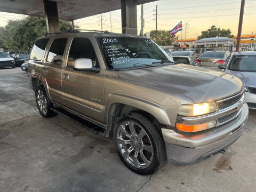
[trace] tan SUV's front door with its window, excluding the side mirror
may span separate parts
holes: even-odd
[[[76,59],[92,59],[99,67],[89,38],[75,37],[70,45],[67,66],[62,71],[63,103],[67,108],[98,122],[104,121],[104,78],[102,72],[74,70]]]

